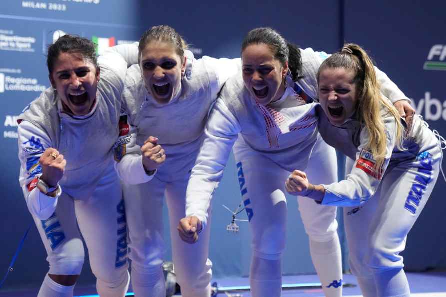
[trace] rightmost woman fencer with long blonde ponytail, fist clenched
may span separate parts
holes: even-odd
[[[399,116],[356,44],[322,63],[318,83],[319,132],[355,161],[344,180],[331,184],[312,184],[294,170],[286,189],[344,207],[349,262],[364,297],[408,297],[399,253],[437,180],[444,140],[420,116],[409,124]]]

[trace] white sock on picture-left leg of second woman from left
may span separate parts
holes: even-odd
[[[162,267],[151,270],[132,265],[131,286],[135,296],[165,297],[165,279]]]

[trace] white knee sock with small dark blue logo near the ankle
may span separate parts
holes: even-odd
[[[325,296],[341,297],[342,254],[337,233],[328,242],[316,242],[310,239],[309,248]]]

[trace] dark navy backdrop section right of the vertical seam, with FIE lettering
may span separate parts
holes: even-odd
[[[412,99],[430,128],[446,135],[446,2],[378,0],[364,4],[346,0],[345,8],[345,39],[369,50],[378,67]],[[446,267],[445,191],[440,173],[408,235],[402,253],[407,270]]]

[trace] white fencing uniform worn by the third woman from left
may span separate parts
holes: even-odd
[[[314,180],[337,180],[335,151],[320,139],[314,108],[317,103],[309,103],[316,97],[317,70],[327,55],[307,48],[301,50],[301,56],[299,75],[303,78],[295,83],[288,78],[283,96],[267,106],[250,96],[241,72],[226,82],[206,125],[206,138],[187,188],[186,215],[197,216],[206,227],[212,194],[234,147],[241,195],[253,232],[251,291],[255,297],[280,295],[280,258],[286,231],[284,183],[289,172],[308,168],[308,176]],[[395,101],[406,99],[384,73],[378,71],[378,75],[387,96]],[[301,197],[298,202],[324,293],[340,296],[336,208]],[[268,265],[271,271],[262,267]]]

